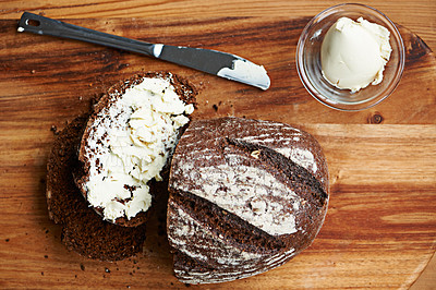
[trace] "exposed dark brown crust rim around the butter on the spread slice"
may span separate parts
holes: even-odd
[[[109,88],[108,93],[105,94],[99,101],[94,106],[93,112],[86,123],[86,128],[84,130],[84,134],[82,136],[81,145],[78,148],[78,160],[81,166],[77,167],[74,171],[75,182],[77,188],[81,190],[82,195],[86,198],[87,192],[85,189],[85,183],[88,181],[89,178],[89,164],[88,160],[85,158],[85,147],[86,141],[89,137],[89,128],[92,128],[95,122],[98,113],[104,110],[105,108],[109,107],[112,101],[120,98],[126,89],[131,88],[132,86],[141,83],[144,77],[153,77],[153,78],[165,78],[169,80],[171,85],[174,87],[175,93],[183,100],[185,104],[195,104],[195,96],[197,95],[196,88],[191,85],[186,80],[180,77],[175,74],[171,74],[169,72],[148,72],[136,74],[130,77],[126,81],[120,81],[116,85]],[[187,125],[182,128],[179,131],[179,136],[183,133]],[[170,160],[170,158],[168,158]],[[169,162],[167,162],[166,167],[162,169],[161,177],[164,181],[156,182],[154,179],[148,182],[150,188],[150,194],[153,196],[153,204],[156,202],[156,198],[159,196],[165,196],[162,192],[167,191],[168,188],[168,174],[169,174]],[[102,215],[102,208],[94,208],[99,215]],[[148,219],[150,210],[141,212],[135,217],[128,219],[126,217],[118,218],[114,223],[123,227],[137,227]]]

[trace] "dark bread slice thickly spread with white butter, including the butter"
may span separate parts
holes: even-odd
[[[177,75],[147,73],[111,87],[95,106],[74,176],[105,220],[126,227],[146,221],[195,95]]]

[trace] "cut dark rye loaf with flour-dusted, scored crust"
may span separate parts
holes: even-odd
[[[318,233],[328,169],[308,133],[269,121],[192,121],[174,152],[167,233],[185,283],[240,279],[282,265]]]

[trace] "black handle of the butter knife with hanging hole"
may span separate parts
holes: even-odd
[[[24,12],[21,16],[19,32],[29,32],[40,35],[71,38],[154,57],[154,44],[129,39],[107,33],[100,33],[29,12]]]

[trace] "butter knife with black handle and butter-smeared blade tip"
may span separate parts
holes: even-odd
[[[72,25],[29,12],[24,12],[21,16],[17,31],[71,38],[143,53],[262,89],[267,89],[270,84],[264,67],[235,55],[217,50],[149,44]]]

